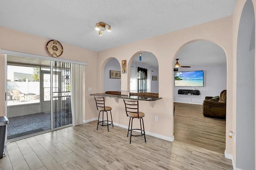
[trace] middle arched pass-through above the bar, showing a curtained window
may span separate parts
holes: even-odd
[[[132,60],[130,69],[130,92],[158,93],[158,60],[153,53],[138,53]]]

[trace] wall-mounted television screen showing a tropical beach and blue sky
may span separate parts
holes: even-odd
[[[204,71],[174,72],[174,86],[204,86]]]

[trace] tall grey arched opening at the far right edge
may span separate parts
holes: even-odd
[[[236,167],[255,169],[255,16],[252,0],[247,0],[242,10],[236,56]]]

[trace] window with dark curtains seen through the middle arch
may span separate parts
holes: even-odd
[[[138,67],[138,92],[148,92],[147,90],[147,75],[148,70],[146,68]]]

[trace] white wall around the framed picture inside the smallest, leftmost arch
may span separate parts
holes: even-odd
[[[121,71],[121,66],[117,59],[110,59],[104,68],[104,92],[121,90],[121,79],[110,78],[110,70]]]

